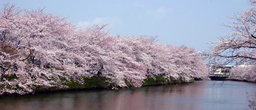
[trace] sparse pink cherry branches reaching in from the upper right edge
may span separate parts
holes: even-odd
[[[219,38],[219,41],[210,42],[215,45],[211,47],[209,54],[209,57],[214,60],[211,63],[219,62],[225,65],[247,62],[254,64],[256,59],[256,1],[249,0],[249,3],[252,8],[237,12],[237,15],[232,17],[226,16],[235,22],[223,24],[223,26],[231,28],[234,32]]]

